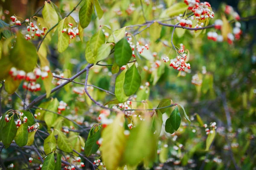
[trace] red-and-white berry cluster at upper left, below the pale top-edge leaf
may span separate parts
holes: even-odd
[[[47,30],[47,28],[42,27],[40,23],[38,23],[38,26],[41,28],[39,28],[38,26],[36,26],[34,23],[30,22],[29,23],[29,19],[25,20],[27,25],[27,31],[29,32],[29,34],[26,34],[25,38],[26,40],[30,40],[31,38],[34,38],[35,36],[40,37],[41,35],[44,36],[45,35],[45,31]],[[35,32],[35,34],[34,34]]]

